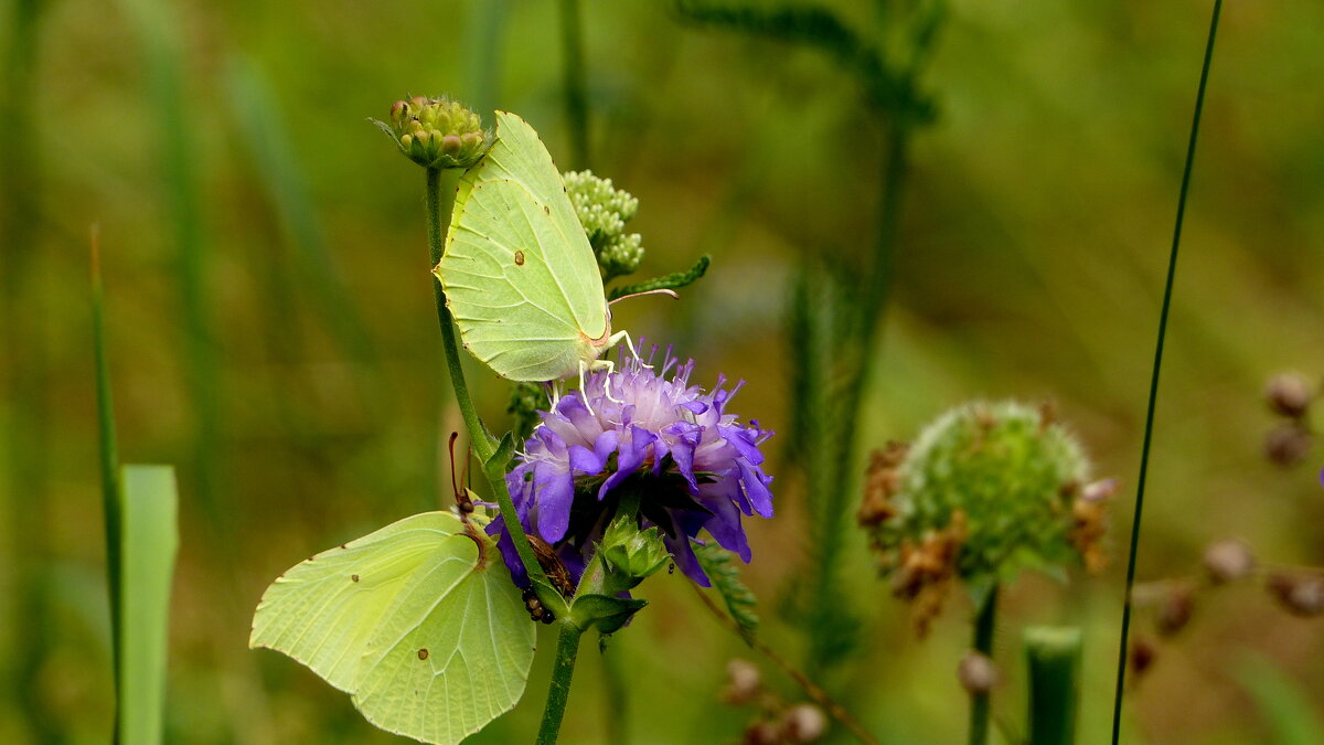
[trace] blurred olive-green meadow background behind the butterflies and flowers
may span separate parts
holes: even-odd
[[[874,3],[829,4],[875,23]],[[167,740],[391,741],[312,673],[249,651],[249,619],[287,566],[449,494],[442,445],[461,423],[432,310],[422,171],[365,118],[406,93],[449,93],[520,113],[571,166],[557,4],[0,7],[0,741],[102,742],[111,726],[93,223],[122,456],[180,469]],[[1207,17],[1188,0],[951,4],[923,76],[937,119],[914,138],[862,411],[861,453],[967,398],[1051,396],[1099,473],[1121,479],[1110,569],[1066,587],[1027,577],[1004,604],[1012,683],[996,711],[1022,717],[1018,628],[1080,624],[1082,742],[1108,733],[1128,505]],[[695,357],[698,382],[748,380],[733,410],[785,432],[788,370],[802,362],[785,342],[788,278],[805,253],[873,240],[880,137],[859,86],[821,54],[678,23],[662,0],[581,0],[581,19],[592,164],[639,198],[641,276],[714,256],[681,302],[628,302],[616,323]],[[1315,1],[1225,8],[1141,581],[1192,573],[1231,536],[1264,561],[1324,563],[1320,453],[1294,471],[1264,463],[1259,399],[1270,372],[1324,371],[1321,38]],[[506,386],[477,366],[470,380],[502,422]],[[745,570],[764,638],[792,659],[801,639],[776,608],[806,549],[814,485],[800,465],[773,457],[779,514],[748,524]],[[959,741],[968,603],[953,599],[916,640],[863,536],[839,540],[866,632],[829,688],[886,742]],[[632,741],[737,740],[748,712],[718,693],[727,660],[752,652],[678,575],[641,591],[653,604],[608,652],[633,680]],[[1148,616],[1135,632],[1152,636]],[[475,741],[532,740],[552,643],[540,640],[524,704]],[[1242,676],[1254,659],[1324,716],[1324,628],[1231,589],[1131,689],[1125,741],[1274,741]],[[564,741],[602,740],[601,677],[587,644]]]

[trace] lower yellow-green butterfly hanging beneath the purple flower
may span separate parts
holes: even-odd
[[[519,701],[534,640],[495,540],[428,512],[282,574],[249,646],[303,663],[387,732],[453,744]]]

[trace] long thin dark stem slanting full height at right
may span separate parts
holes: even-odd
[[[1186,144],[1186,167],[1181,175],[1181,194],[1177,198],[1177,221],[1172,233],[1172,255],[1168,258],[1168,281],[1164,285],[1162,310],[1158,314],[1158,341],[1155,345],[1153,375],[1149,379],[1149,407],[1145,411],[1145,439],[1140,449],[1140,477],[1136,483],[1136,513],[1131,522],[1131,551],[1127,558],[1127,594],[1121,603],[1121,643],[1117,648],[1117,689],[1112,701],[1112,742],[1117,744],[1121,730],[1121,699],[1127,683],[1127,638],[1131,632],[1131,587],[1136,581],[1136,549],[1140,546],[1140,518],[1145,501],[1145,476],[1149,471],[1149,445],[1153,439],[1155,404],[1158,400],[1158,370],[1162,366],[1162,346],[1168,331],[1168,312],[1172,309],[1172,285],[1177,274],[1177,249],[1181,245],[1181,223],[1186,216],[1186,195],[1190,191],[1190,171],[1196,162],[1196,138],[1200,134],[1200,115],[1205,109],[1205,87],[1214,58],[1214,37],[1218,33],[1218,15],[1223,0],[1214,0],[1209,21],[1209,41],[1205,44],[1205,64],[1200,70],[1200,89],[1196,93],[1196,113],[1190,121],[1190,141]]]

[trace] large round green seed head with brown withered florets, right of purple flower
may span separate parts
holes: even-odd
[[[871,529],[883,573],[915,598],[957,578],[978,595],[1022,567],[1061,575],[1100,563],[1103,502],[1084,451],[1045,407],[969,403],[899,451],[887,510]]]

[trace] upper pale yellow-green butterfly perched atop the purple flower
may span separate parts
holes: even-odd
[[[561,175],[528,122],[496,111],[496,142],[455,190],[433,268],[465,349],[511,380],[610,367],[602,277]]]

